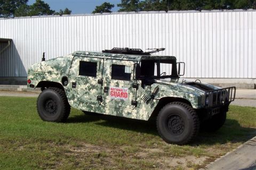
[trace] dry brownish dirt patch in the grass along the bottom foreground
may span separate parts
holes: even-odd
[[[54,146],[54,143],[50,143]],[[79,143],[78,146],[60,145],[61,150],[66,150],[65,155],[75,156],[75,165],[88,162],[87,168],[98,169],[100,167],[124,167],[127,169],[191,169],[191,167],[203,165],[209,157],[196,156],[166,156],[161,148],[142,148],[138,146],[122,146],[119,148],[108,146],[96,146],[87,143]],[[93,165],[93,167],[92,167]]]

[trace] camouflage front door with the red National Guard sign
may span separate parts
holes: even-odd
[[[104,106],[133,109],[137,105],[134,64],[133,61],[105,60],[102,76]]]

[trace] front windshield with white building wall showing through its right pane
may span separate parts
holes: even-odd
[[[178,77],[175,60],[142,60],[139,79],[166,79]]]

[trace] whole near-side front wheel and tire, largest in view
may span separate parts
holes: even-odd
[[[200,123],[197,113],[191,106],[173,102],[161,109],[156,126],[165,142],[184,145],[197,136]]]

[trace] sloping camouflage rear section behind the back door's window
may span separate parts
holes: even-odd
[[[28,71],[55,73],[55,74],[68,74],[73,57],[74,57],[73,55],[67,55],[67,56],[57,57],[51,60],[39,62],[31,65]]]

